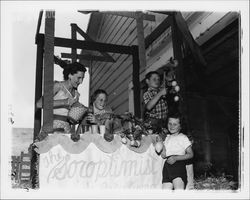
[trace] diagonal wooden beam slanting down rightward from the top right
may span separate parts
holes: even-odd
[[[192,34],[189,31],[188,25],[185,19],[182,17],[180,12],[174,14],[176,25],[179,28],[182,37],[186,40],[187,44],[190,47],[192,54],[194,55],[195,60],[203,66],[206,66],[206,61],[201,53],[199,45],[195,42]]]

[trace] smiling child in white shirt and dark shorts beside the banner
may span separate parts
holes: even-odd
[[[186,160],[193,158],[193,150],[188,137],[181,133],[181,120],[178,113],[168,117],[171,135],[164,141],[161,153],[162,158],[166,159],[162,172],[163,189],[185,189],[187,185]]]

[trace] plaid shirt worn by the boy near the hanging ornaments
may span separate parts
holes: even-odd
[[[143,94],[143,101],[146,105],[153,97],[159,92],[159,89],[148,88],[148,90]],[[167,101],[163,98],[156,103],[156,105],[149,111],[146,110],[146,117],[156,118],[156,119],[166,119],[168,114]]]

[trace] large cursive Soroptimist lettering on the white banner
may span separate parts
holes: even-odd
[[[51,169],[47,176],[47,183],[51,180],[64,180],[71,178],[91,178],[95,182],[100,178],[116,178],[124,176],[144,176],[157,173],[155,158],[153,156],[138,157],[138,159],[117,159],[119,155],[105,156],[98,161],[87,161],[73,159],[70,154],[56,157],[50,154],[53,159],[50,163]],[[60,158],[60,160],[59,160]],[[48,166],[46,164],[46,166]],[[53,166],[53,167],[52,167]]]

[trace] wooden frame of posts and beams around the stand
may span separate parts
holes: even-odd
[[[79,11],[83,12],[83,11]],[[85,12],[86,13],[86,12]],[[140,94],[140,70],[146,67],[146,49],[169,27],[172,29],[172,41],[174,49],[174,57],[179,60],[179,67],[177,72],[177,80],[181,87],[185,90],[185,83],[183,81],[183,63],[182,63],[182,47],[181,42],[183,38],[187,40],[187,43],[195,55],[195,58],[205,64],[203,57],[199,51],[198,45],[192,39],[192,36],[187,26],[180,27],[185,24],[185,20],[180,13],[167,12],[168,17],[158,26],[155,30],[144,38],[143,20],[154,21],[154,15],[144,14],[142,12],[108,12],[106,14],[120,15],[126,17],[132,17],[137,22],[137,39],[138,46],[123,46],[116,44],[106,44],[93,41],[85,32],[83,32],[76,24],[71,24],[71,37],[72,39],[59,38],[54,36],[55,27],[55,12],[46,11],[45,15],[45,34],[40,34],[40,25],[42,20],[43,11],[40,12],[37,32],[36,32],[36,45],[37,45],[37,61],[36,61],[36,89],[35,89],[35,102],[42,96],[42,88],[44,88],[44,108],[43,108],[43,125],[46,125],[48,130],[53,130],[53,71],[54,71],[54,47],[67,47],[71,48],[71,54],[62,54],[62,57],[71,58],[72,61],[77,59],[85,60],[97,60],[104,62],[115,62],[115,60],[109,56],[107,52],[128,54],[133,58],[133,72],[132,82],[134,94]],[[77,40],[77,32],[85,38],[85,40]],[[77,49],[92,50],[101,52],[102,56],[93,55],[77,55]],[[43,75],[44,74],[44,75]],[[42,87],[43,84],[43,87]],[[184,94],[183,89],[181,94]],[[134,114],[137,117],[141,117],[141,100],[139,95],[134,95]],[[184,105],[182,105],[184,107]],[[183,109],[182,109],[183,110]],[[184,109],[185,110],[185,109]],[[41,110],[36,109],[34,115],[34,140],[36,139],[41,129]],[[34,183],[35,169],[34,163],[38,160],[38,155],[35,151],[32,151],[31,164],[31,179]],[[34,184],[33,184],[34,185]]]

